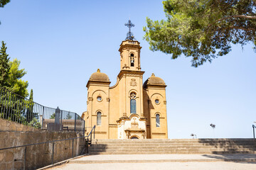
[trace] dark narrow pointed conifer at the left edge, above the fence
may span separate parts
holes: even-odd
[[[7,79],[9,79],[11,66],[9,64],[10,57],[6,54],[6,49],[6,44],[2,41],[0,50],[0,86],[9,86]]]

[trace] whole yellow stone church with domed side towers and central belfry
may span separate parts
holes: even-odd
[[[109,77],[100,69],[87,82],[87,111],[82,118],[86,133],[96,125],[96,139],[168,138],[166,84],[154,74],[143,84],[141,49],[129,30],[119,47],[117,83],[110,86]]]

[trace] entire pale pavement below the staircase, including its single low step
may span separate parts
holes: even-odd
[[[105,154],[70,160],[50,169],[256,170],[256,154]]]

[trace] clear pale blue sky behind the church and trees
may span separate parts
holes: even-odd
[[[34,101],[82,114],[90,75],[99,68],[113,86],[119,73],[119,45],[129,18],[141,42],[144,81],[152,73],[167,84],[169,138],[252,137],[256,121],[256,53],[252,45],[191,67],[191,58],[152,52],[143,40],[146,17],[165,18],[159,0],[11,0],[0,8],[0,40],[11,60],[21,60]],[[216,125],[215,130],[210,123]]]

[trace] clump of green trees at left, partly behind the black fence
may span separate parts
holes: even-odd
[[[33,90],[28,99],[28,81],[21,78],[26,74],[24,69],[19,69],[20,61],[10,58],[6,54],[6,44],[2,42],[0,51],[0,117],[14,120],[24,125],[36,125],[38,113],[33,112]]]

